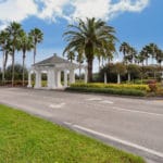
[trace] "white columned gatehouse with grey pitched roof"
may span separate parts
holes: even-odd
[[[41,86],[41,75],[47,74],[47,88],[48,89],[58,89],[67,87],[67,83],[75,83],[75,70],[84,68],[85,70],[85,83],[87,83],[87,66],[78,65],[72,63],[63,58],[53,54],[51,58],[48,58],[43,61],[40,61],[32,65],[28,72],[28,86],[32,87],[32,74],[35,74],[35,86],[34,88],[40,89]],[[64,84],[61,84],[61,73],[64,73]],[[68,80],[70,78],[70,80]]]

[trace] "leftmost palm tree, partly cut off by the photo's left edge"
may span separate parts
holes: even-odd
[[[4,82],[5,78],[5,66],[8,61],[8,54],[9,54],[9,33],[7,30],[2,30],[0,33],[0,46],[1,51],[3,53],[3,62],[2,62],[2,82]]]

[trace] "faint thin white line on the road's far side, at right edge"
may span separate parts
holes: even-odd
[[[163,116],[163,114],[159,114],[159,113],[151,113],[151,112],[145,112],[145,111],[136,111],[136,110],[123,109],[123,108],[117,108],[117,106],[113,106],[112,110],[126,111],[126,112],[133,112],[133,113],[141,113],[141,114],[146,114],[146,115]]]

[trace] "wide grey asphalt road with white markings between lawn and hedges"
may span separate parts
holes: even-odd
[[[163,163],[163,99],[0,87],[0,103],[139,154],[149,163]]]

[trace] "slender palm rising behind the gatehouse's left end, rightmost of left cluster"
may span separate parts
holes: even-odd
[[[34,28],[30,30],[29,36],[33,38],[33,43],[34,43],[34,64],[35,64],[36,53],[37,53],[37,45],[43,40],[43,34],[40,29]]]

